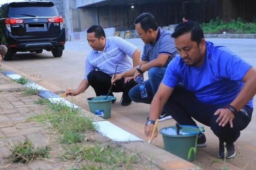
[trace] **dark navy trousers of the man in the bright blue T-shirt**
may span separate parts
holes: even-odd
[[[233,119],[233,128],[227,123],[224,127],[216,123],[218,116],[213,115],[219,108],[225,108],[224,105],[205,105],[198,101],[194,94],[181,85],[177,85],[172,95],[166,102],[165,111],[171,113],[180,125],[196,126],[194,118],[198,122],[211,127],[213,133],[224,142],[235,142],[240,131],[243,130],[251,121],[253,108],[244,106]]]

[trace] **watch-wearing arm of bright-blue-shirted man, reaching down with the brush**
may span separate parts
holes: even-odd
[[[163,110],[164,105],[166,104],[167,100],[171,96],[174,88],[170,88],[167,85],[161,83],[157,93],[155,94],[151,105],[150,105],[150,111],[149,111],[149,120],[154,120],[156,121]],[[154,125],[149,124],[145,126],[145,135],[150,138],[152,130],[153,130]],[[157,136],[157,130],[154,134],[154,137]]]

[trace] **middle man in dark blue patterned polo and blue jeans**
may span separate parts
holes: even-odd
[[[134,20],[134,24],[137,33],[145,43],[141,57],[142,61],[137,68],[117,75],[112,82],[125,76],[134,76],[134,80],[136,80],[138,76],[143,76],[143,73],[148,71],[148,80],[144,82],[148,96],[141,97],[139,85],[129,91],[129,96],[134,102],[150,104],[163,79],[166,67],[177,54],[177,50],[174,45],[174,39],[171,37],[172,33],[159,28],[157,20],[152,14],[140,14]],[[171,118],[172,116],[168,112],[163,111],[159,121]]]

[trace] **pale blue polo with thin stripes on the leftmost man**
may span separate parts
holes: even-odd
[[[120,37],[106,38],[106,44],[103,51],[92,50],[85,61],[84,79],[93,71],[98,70],[112,77],[115,74],[116,65],[118,65],[116,74],[128,71],[132,68],[131,57],[137,50],[135,45],[123,40]]]

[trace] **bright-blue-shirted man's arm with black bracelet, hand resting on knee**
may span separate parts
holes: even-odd
[[[244,107],[247,102],[256,94],[256,69],[250,68],[242,79],[244,86],[239,92],[238,96],[230,103],[237,111]],[[220,115],[216,122],[219,122],[220,126],[225,126],[228,122],[230,127],[233,127],[234,114],[228,109],[218,109],[214,115]]]

